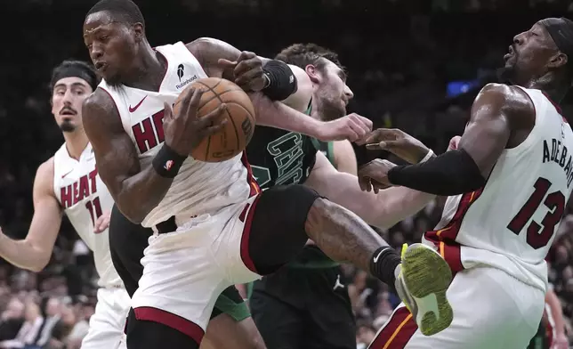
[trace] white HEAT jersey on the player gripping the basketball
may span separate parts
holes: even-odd
[[[207,77],[187,47],[178,42],[156,48],[167,61],[167,71],[158,92],[125,85],[99,87],[115,101],[125,132],[132,138],[141,166],[148,166],[164,142],[164,102],[174,104],[193,81]],[[145,217],[142,225],[152,227],[172,215],[178,225],[193,215],[213,215],[222,207],[242,202],[256,188],[247,171],[246,158],[207,163],[187,158],[165,198]]]

